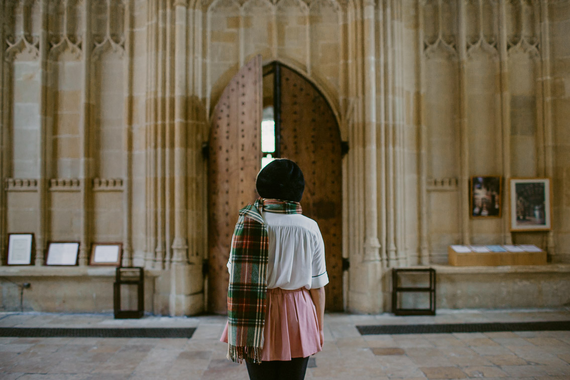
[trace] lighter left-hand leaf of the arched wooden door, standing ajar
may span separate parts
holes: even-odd
[[[227,313],[231,236],[238,211],[257,197],[262,113],[261,56],[227,85],[212,117],[208,175],[208,311]]]

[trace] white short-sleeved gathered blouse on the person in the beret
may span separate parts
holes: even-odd
[[[302,214],[262,213],[269,234],[267,288],[321,288],[328,284],[324,242],[315,220]],[[231,263],[227,262],[230,270]]]

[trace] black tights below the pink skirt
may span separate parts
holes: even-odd
[[[253,364],[246,361],[250,380],[303,380],[309,357],[287,361],[273,360]]]

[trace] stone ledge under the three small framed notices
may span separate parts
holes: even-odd
[[[0,267],[0,277],[115,277],[115,267]],[[145,270],[145,277],[158,277],[164,271]]]

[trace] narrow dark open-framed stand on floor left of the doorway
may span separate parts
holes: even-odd
[[[121,310],[121,285],[137,285],[137,310]],[[144,269],[141,267],[117,268],[113,284],[115,319],[142,318],[144,315]]]

